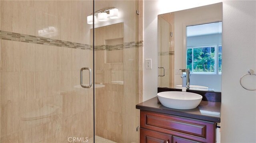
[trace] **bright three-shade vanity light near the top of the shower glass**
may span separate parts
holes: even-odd
[[[99,22],[104,22],[107,21],[108,18],[110,19],[115,19],[118,18],[118,9],[115,7],[110,7],[110,8],[103,8],[101,10],[97,10],[92,13],[90,16],[87,16],[87,24],[93,24],[93,15],[94,15],[94,24],[96,23],[96,15],[98,17]]]

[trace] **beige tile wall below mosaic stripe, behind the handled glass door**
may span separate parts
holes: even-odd
[[[92,89],[75,88],[75,86],[79,87],[80,85],[79,67],[92,66],[92,64],[74,64],[78,59],[82,61],[86,59],[85,57],[92,58],[92,51],[88,52],[86,50],[64,47],[60,47],[64,49],[58,51],[59,47],[18,43],[19,42],[16,41],[1,40],[1,61],[4,63],[2,65],[6,65],[6,67],[14,67],[12,65],[16,65],[16,63],[19,65],[14,68],[1,66],[1,141],[4,142],[7,136],[12,136],[14,133],[24,132],[25,130],[30,130],[31,127],[45,125],[46,123],[52,123],[54,127],[58,129],[58,132],[45,130],[46,132],[51,132],[49,135],[65,135],[59,137],[62,141],[66,141],[69,135],[77,136],[78,133],[84,133],[84,135],[87,136],[92,135],[92,133],[88,134],[89,129],[92,129],[91,125],[93,123]],[[18,46],[16,47],[15,45]],[[19,59],[4,59],[4,57],[10,57],[15,51],[19,52],[21,47],[27,47],[28,50],[26,53],[17,53],[15,57]],[[44,62],[36,62],[37,56],[35,56],[35,48],[37,48],[38,51],[43,51],[40,53],[42,53],[42,59],[45,59]],[[50,54],[54,53],[55,50],[58,52]],[[69,52],[70,55],[80,56],[69,58],[71,61],[69,63],[69,61],[64,58],[66,54],[61,51],[64,51],[64,53]],[[57,55],[59,55],[59,58],[57,58],[60,59],[59,63],[47,61],[47,59],[56,58]],[[38,54],[38,57],[40,57],[40,54]],[[35,62],[28,62],[28,59]],[[59,66],[55,66],[57,63]],[[41,67],[42,69],[40,69]],[[68,68],[73,70],[68,70]],[[86,78],[84,78],[84,80],[86,80]],[[86,83],[86,81],[84,82]],[[79,118],[76,118],[78,116]],[[83,120],[80,120],[81,118]],[[73,122],[73,120],[76,122]],[[84,122],[91,122],[83,128],[85,132],[79,130],[79,127],[81,127]],[[74,134],[71,134],[73,133],[72,130],[65,130],[66,125],[75,125],[75,127],[71,126],[72,129],[74,128]],[[66,134],[64,134],[65,132]],[[37,133],[35,135],[44,136],[45,138],[43,139],[25,139],[23,141],[35,142],[48,139],[49,136],[43,135],[43,133],[44,132]]]

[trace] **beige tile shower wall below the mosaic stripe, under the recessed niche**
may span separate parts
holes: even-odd
[[[118,143],[138,142],[135,105],[139,103],[139,72],[135,49],[138,47],[124,49],[127,56],[120,64],[105,64],[104,51],[95,53],[96,83],[105,85],[96,88],[96,135]]]

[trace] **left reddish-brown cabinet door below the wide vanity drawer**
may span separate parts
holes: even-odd
[[[171,143],[172,135],[140,128],[140,143]]]

